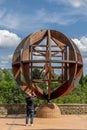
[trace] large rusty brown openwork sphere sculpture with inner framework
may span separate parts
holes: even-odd
[[[82,75],[82,57],[75,43],[54,30],[30,34],[16,48],[12,70],[28,95],[51,100],[75,88]]]

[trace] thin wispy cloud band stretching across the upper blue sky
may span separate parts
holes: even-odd
[[[38,30],[44,28],[46,23],[56,23],[59,25],[68,25],[76,22],[72,13],[66,10],[63,12],[50,12],[45,8],[35,10],[33,14],[20,14],[17,12],[7,12],[6,9],[0,10],[0,26],[13,30]]]

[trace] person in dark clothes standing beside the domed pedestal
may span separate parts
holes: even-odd
[[[26,97],[26,126],[28,126],[28,119],[30,117],[30,125],[33,126],[34,120],[34,100],[36,97],[28,96]]]

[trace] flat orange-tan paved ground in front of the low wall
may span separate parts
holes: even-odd
[[[25,126],[25,115],[0,117],[0,130],[87,130],[87,115],[61,115],[59,118],[36,118],[34,126]]]

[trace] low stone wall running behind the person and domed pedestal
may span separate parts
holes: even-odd
[[[87,114],[87,104],[58,104],[61,114]],[[37,110],[38,106],[35,107]],[[25,104],[0,104],[2,114],[25,114]]]

